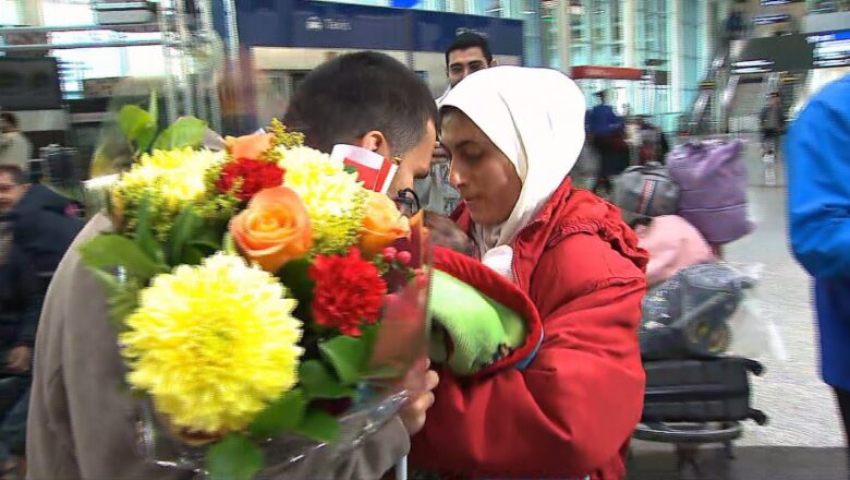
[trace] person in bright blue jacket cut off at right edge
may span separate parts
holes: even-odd
[[[791,247],[815,280],[823,376],[850,439],[850,75],[811,98],[785,147]]]

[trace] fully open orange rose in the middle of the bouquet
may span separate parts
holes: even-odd
[[[287,262],[306,255],[313,247],[307,208],[286,187],[254,195],[247,208],[230,220],[230,235],[248,261],[272,274]]]

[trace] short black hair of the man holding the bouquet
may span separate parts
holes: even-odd
[[[283,117],[287,128],[321,152],[377,130],[392,155],[421,142],[428,120],[436,125],[437,105],[427,85],[398,60],[374,51],[347,53],[316,68]]]

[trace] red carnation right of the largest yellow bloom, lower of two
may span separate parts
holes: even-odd
[[[353,248],[345,256],[316,256],[309,277],[316,283],[312,309],[319,325],[357,337],[361,325],[378,321],[387,283],[360,250]]]

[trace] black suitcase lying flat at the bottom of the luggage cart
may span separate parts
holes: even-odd
[[[740,357],[644,361],[642,422],[737,422],[766,417],[750,405],[750,373],[761,363]]]

